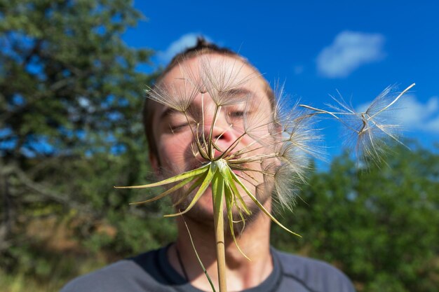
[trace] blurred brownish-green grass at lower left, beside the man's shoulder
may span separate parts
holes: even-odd
[[[65,220],[36,219],[29,223],[25,234],[26,247],[11,249],[11,253],[20,255],[18,263],[9,265],[11,270],[0,265],[0,292],[58,292],[71,279],[118,259],[103,251],[88,251],[75,239]]]

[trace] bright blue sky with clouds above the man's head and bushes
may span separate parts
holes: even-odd
[[[147,21],[124,36],[156,51],[151,71],[196,36],[238,50],[293,99],[322,107],[337,90],[358,109],[389,85],[400,100],[403,136],[439,142],[437,1],[135,1]],[[341,126],[323,123],[329,153]]]

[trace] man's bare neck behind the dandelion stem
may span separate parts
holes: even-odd
[[[193,286],[203,291],[212,291],[208,279],[205,277],[203,269],[196,258],[184,221],[186,221],[189,232],[191,232],[196,253],[198,253],[215,288],[217,288],[215,232],[208,224],[191,220],[190,216],[184,217],[184,220],[183,218],[177,218],[177,242],[169,249],[168,259],[177,272],[182,274],[183,277],[189,278],[187,280]],[[256,218],[245,226],[245,230],[241,235],[236,234],[238,246],[250,260],[245,258],[238,250],[228,232],[226,231],[225,234],[227,291],[241,291],[261,284],[273,270],[269,245],[269,218],[259,212]],[[180,253],[182,264],[180,264],[177,253]]]

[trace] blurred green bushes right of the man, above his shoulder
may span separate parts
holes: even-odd
[[[439,155],[395,146],[362,169],[343,155],[313,173],[273,243],[339,266],[359,291],[435,291],[439,285]],[[295,244],[292,244],[295,240]]]

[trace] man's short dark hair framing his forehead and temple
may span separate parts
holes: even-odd
[[[243,61],[245,64],[248,64],[248,66],[252,67],[257,71],[257,69],[248,62],[247,59],[245,59],[243,56],[238,55],[233,50],[230,50],[229,48],[222,48],[217,46],[215,43],[210,43],[209,41],[206,41],[203,37],[198,36],[196,45],[190,48],[187,48],[182,53],[178,53],[173,57],[173,60],[170,61],[168,66],[161,72],[161,74],[156,78],[155,84],[157,85],[160,83],[160,81],[163,79],[166,74],[169,73],[170,70],[172,70],[175,66],[178,64],[181,64],[184,62],[184,60],[191,59],[192,57],[196,57],[199,55],[205,55],[205,54],[219,54],[229,57],[236,57],[237,59]],[[262,78],[263,79],[263,78]],[[265,79],[263,79],[265,81]],[[273,90],[271,90],[269,84],[266,83],[266,93],[271,100],[272,103],[274,103],[274,94]],[[145,99],[144,106],[143,106],[143,126],[144,126],[144,132],[147,137],[148,145],[149,145],[149,152],[154,155],[157,159],[159,159],[156,141],[154,139],[153,135],[153,125],[152,125],[152,119],[154,116],[154,106],[151,106],[151,99],[147,98]]]

